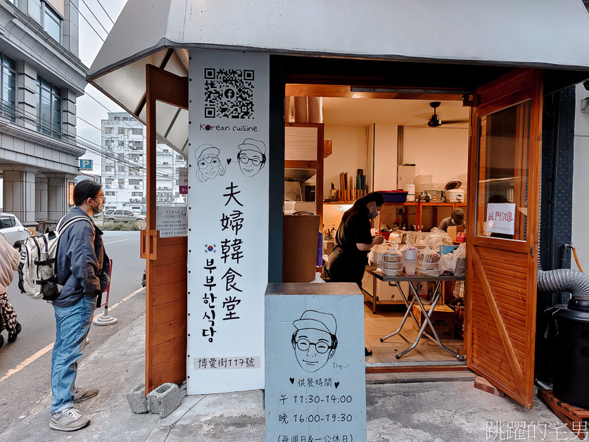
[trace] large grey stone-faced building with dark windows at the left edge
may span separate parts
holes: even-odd
[[[78,0],[0,1],[2,208],[27,226],[51,227],[68,212],[85,151],[76,139],[88,69],[78,22]]]

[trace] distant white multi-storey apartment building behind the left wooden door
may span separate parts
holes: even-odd
[[[107,209],[146,211],[146,132],[145,126],[129,113],[108,113],[101,121],[102,182]],[[179,195],[178,168],[186,161],[165,145],[157,150],[158,205],[184,202]]]

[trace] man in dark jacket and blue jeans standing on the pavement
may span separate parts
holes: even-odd
[[[92,215],[104,208],[101,184],[82,181],[74,187],[75,207],[62,218],[65,222],[82,215],[87,220],[73,222],[59,232],[57,277],[63,289],[53,301],[56,339],[51,355],[51,420],[49,427],[75,431],[86,427],[84,417],[74,404],[96,396],[98,389],[76,388],[77,360],[86,346],[96,301],[108,285],[109,263],[102,242],[102,232]],[[60,223],[61,223],[60,222]]]

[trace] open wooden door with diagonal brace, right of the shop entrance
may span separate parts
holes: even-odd
[[[542,71],[514,70],[476,90],[467,225],[468,365],[533,403]]]

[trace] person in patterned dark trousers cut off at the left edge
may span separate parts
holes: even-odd
[[[16,341],[16,336],[22,328],[6,293],[12,282],[13,270],[18,269],[19,258],[18,251],[8,244],[4,236],[0,235],[0,331],[4,324],[4,328],[8,331],[8,342]],[[3,344],[4,337],[0,335],[0,347]]]

